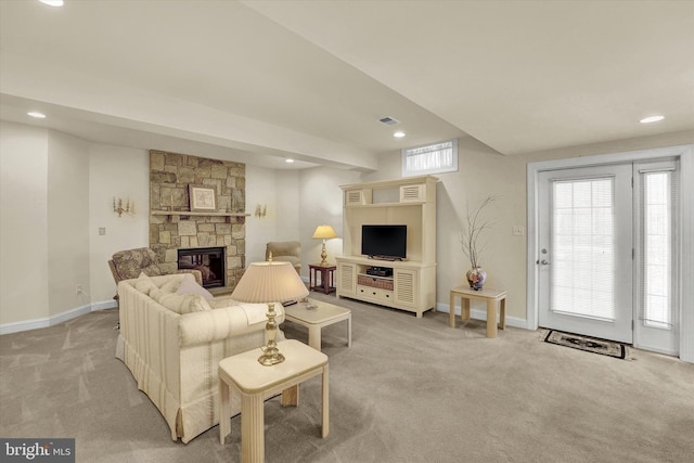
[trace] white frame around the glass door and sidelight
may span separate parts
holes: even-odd
[[[596,166],[604,164],[632,163],[664,157],[680,158],[680,210],[679,233],[681,236],[680,259],[680,359],[694,363],[694,310],[684,312],[683,307],[694,307],[694,285],[682,282],[694,281],[694,145],[679,145],[625,153],[601,154],[578,158],[566,158],[529,163],[527,167],[527,300],[526,320],[529,330],[538,329],[538,189],[539,172],[569,167]],[[689,214],[685,214],[687,211]]]

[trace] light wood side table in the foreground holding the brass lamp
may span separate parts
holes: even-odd
[[[219,362],[219,441],[231,432],[231,394],[241,395],[241,460],[265,461],[264,400],[282,393],[283,406],[298,406],[298,385],[322,375],[322,437],[330,433],[327,356],[296,339],[278,348],[286,360],[272,366],[258,362],[260,349],[228,357]]]

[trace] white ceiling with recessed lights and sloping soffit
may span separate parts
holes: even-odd
[[[266,167],[694,129],[690,0],[0,0],[0,53],[5,120]]]

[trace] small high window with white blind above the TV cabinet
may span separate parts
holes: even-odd
[[[402,177],[458,170],[458,140],[402,150]]]

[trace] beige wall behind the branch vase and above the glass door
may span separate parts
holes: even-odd
[[[481,258],[483,268],[488,273],[489,286],[509,292],[506,314],[512,319],[510,324],[525,325],[527,233],[514,236],[512,230],[513,226],[523,226],[527,232],[528,163],[689,143],[694,143],[694,131],[502,156],[472,138],[460,139],[459,171],[436,176],[440,180],[437,189],[436,237],[436,299],[439,309],[448,310],[450,288],[465,282],[465,272],[470,268],[470,261],[460,245],[467,204],[476,205],[488,195],[497,195],[498,200],[489,208],[494,219]],[[400,172],[400,152],[384,153],[378,158],[378,170],[364,176],[363,180],[399,178]],[[484,307],[474,305],[473,309]]]

